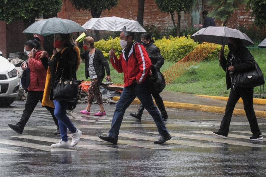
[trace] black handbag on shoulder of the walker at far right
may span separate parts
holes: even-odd
[[[250,54],[251,55],[251,54]],[[252,56],[252,55],[251,55]],[[237,87],[257,87],[265,83],[264,76],[259,68],[258,63],[255,61],[255,69],[247,72],[235,72],[234,73],[234,83]]]

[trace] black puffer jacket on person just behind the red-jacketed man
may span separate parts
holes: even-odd
[[[163,56],[160,53],[160,49],[152,42],[145,46],[151,62],[157,69],[160,69],[164,64]]]

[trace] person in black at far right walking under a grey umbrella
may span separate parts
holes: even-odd
[[[236,87],[234,84],[234,72],[246,72],[255,69],[255,63],[249,50],[243,46],[240,39],[228,39],[229,53],[227,59],[224,57],[224,51],[219,52],[220,65],[226,71],[226,86],[231,89],[226,104],[226,110],[218,132],[212,132],[215,137],[227,139],[229,126],[233,114],[233,110],[239,98],[241,97],[244,104],[246,117],[249,121],[252,137],[249,140],[262,140],[262,134],[259,130],[257,118],[253,108],[253,87]]]

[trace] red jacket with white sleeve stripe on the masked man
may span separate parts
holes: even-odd
[[[133,47],[134,51],[133,52]],[[134,54],[135,53],[135,54]],[[115,60],[115,62],[114,62]],[[110,58],[113,68],[119,73],[124,73],[124,86],[130,86],[136,81],[143,82],[150,74],[152,63],[146,49],[139,42],[134,42],[126,60],[124,49],[119,59],[116,56]]]

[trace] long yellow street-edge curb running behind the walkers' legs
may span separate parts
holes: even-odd
[[[114,96],[113,100],[118,101],[119,96]],[[194,110],[194,111],[204,111],[204,112],[213,112],[213,113],[220,113],[224,114],[225,107],[218,107],[218,106],[209,106],[209,105],[202,105],[202,104],[190,104],[190,103],[179,103],[179,102],[172,102],[172,101],[163,101],[164,106],[168,108],[176,108],[176,109],[187,109],[187,110]],[[140,104],[139,99],[134,99],[132,104]],[[245,116],[246,112],[244,109],[234,109],[234,115],[241,115]],[[265,111],[255,111],[257,117],[264,117],[266,118]]]

